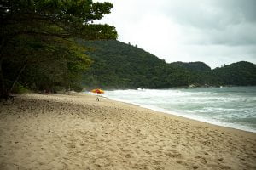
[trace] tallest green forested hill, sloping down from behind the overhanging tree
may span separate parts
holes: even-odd
[[[85,41],[93,63],[84,86],[102,88],[175,88],[189,86],[189,71],[166,65],[153,54],[118,41]]]

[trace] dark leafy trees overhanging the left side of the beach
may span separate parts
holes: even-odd
[[[91,61],[77,39],[116,39],[114,26],[94,24],[111,8],[91,0],[1,1],[0,98],[18,85],[79,88]]]

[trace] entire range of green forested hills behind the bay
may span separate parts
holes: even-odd
[[[83,43],[89,48],[86,54],[93,60],[89,71],[84,73],[84,87],[87,88],[256,85],[256,66],[252,63],[239,62],[211,70],[202,62],[167,64],[141,48],[115,40]],[[241,67],[242,74],[233,71],[237,67]]]

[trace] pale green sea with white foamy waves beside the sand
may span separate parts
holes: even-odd
[[[138,88],[105,91],[103,96],[154,111],[256,133],[256,87]]]

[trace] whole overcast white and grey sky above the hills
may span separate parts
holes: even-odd
[[[113,8],[100,23],[167,63],[256,64],[256,0],[107,1]]]

